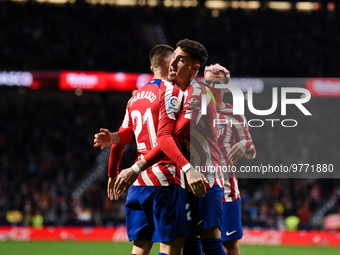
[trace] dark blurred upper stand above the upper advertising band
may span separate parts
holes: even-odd
[[[339,77],[338,11],[0,2],[0,69],[149,72],[149,50],[201,42],[234,76]],[[24,47],[22,47],[24,45]]]

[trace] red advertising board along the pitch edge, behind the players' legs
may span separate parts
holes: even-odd
[[[284,231],[244,229],[241,244],[340,246],[335,231]],[[0,241],[106,241],[128,242],[126,227],[0,227]]]

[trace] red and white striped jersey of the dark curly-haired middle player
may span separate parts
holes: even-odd
[[[199,169],[208,179],[206,188],[213,185],[223,187],[223,173],[221,159],[217,148],[217,130],[213,126],[216,116],[216,106],[209,95],[210,89],[193,79],[184,94],[184,107],[178,121],[182,118],[190,120],[189,142],[182,144],[183,153],[190,154],[190,163]],[[206,109],[202,107],[202,101],[206,102]],[[204,104],[203,104],[204,105]],[[211,168],[215,167],[215,168]],[[214,169],[209,172],[209,169]]]

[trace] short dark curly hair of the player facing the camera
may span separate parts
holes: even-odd
[[[203,66],[208,59],[207,50],[199,42],[183,39],[177,43],[177,47],[188,53],[191,59],[198,62],[200,66]]]

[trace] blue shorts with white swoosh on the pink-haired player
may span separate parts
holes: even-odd
[[[241,222],[241,199],[223,203],[222,242],[241,239],[243,236]]]

